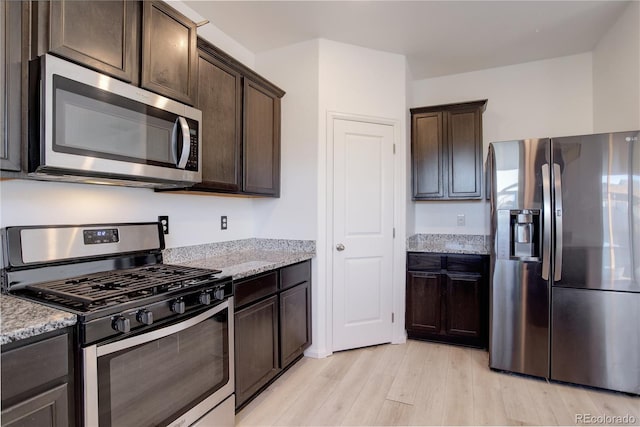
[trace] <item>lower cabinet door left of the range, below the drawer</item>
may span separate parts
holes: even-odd
[[[67,384],[62,384],[9,408],[3,408],[2,425],[67,427],[70,425],[67,395]]]

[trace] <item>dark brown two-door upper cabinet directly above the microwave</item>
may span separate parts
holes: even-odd
[[[51,52],[193,105],[196,24],[161,1],[35,2],[33,56]]]

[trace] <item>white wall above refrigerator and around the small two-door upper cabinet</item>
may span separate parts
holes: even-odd
[[[591,53],[413,82],[410,107],[488,99],[484,154],[492,141],[593,132]],[[488,204],[415,202],[416,233],[489,234]],[[464,214],[465,226],[456,225]]]

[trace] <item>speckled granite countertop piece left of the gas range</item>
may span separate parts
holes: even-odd
[[[0,295],[0,344],[8,344],[75,325],[76,315],[45,305]]]

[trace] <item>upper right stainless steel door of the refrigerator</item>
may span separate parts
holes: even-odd
[[[563,225],[557,229],[562,274],[555,286],[640,292],[639,136],[636,131],[552,140],[553,162],[561,170]],[[555,190],[558,199],[557,185]]]

